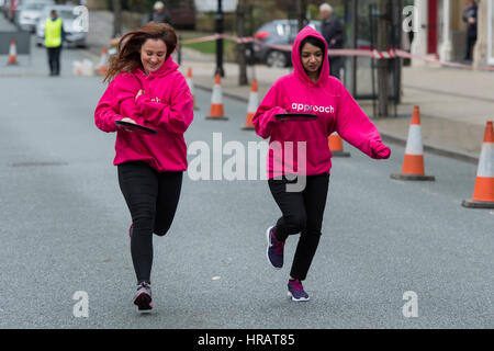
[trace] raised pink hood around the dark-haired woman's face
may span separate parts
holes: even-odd
[[[300,57],[300,45],[307,36],[313,36],[315,38],[318,38],[324,44],[323,64],[321,67],[319,79],[317,80],[317,82],[313,82],[311,80],[311,78],[307,76],[304,67],[302,66],[302,61],[301,61],[301,57]],[[295,76],[310,86],[316,86],[319,83],[324,83],[329,78],[327,43],[324,39],[323,35],[321,35],[319,32],[317,32],[310,25],[307,25],[302,31],[300,31],[295,37],[295,42],[293,43],[293,46],[292,46],[292,64],[293,64]]]

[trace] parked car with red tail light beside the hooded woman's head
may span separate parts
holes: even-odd
[[[321,21],[308,23],[321,32]],[[291,45],[299,34],[297,20],[274,20],[263,24],[254,37],[268,45]],[[257,61],[265,63],[269,67],[288,67],[291,65],[291,53],[277,49],[267,45],[254,44],[254,57]]]

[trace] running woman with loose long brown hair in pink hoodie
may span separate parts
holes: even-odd
[[[132,216],[131,254],[137,276],[134,304],[153,308],[153,234],[164,236],[173,220],[187,170],[183,133],[193,118],[192,95],[171,53],[177,35],[167,24],[149,23],[125,34],[112,58],[110,84],[94,112],[98,128],[116,132],[119,183]],[[132,132],[115,121],[137,123],[156,135]]]

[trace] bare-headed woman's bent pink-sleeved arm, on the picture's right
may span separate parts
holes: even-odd
[[[173,82],[170,104],[151,101],[145,92],[136,99],[137,113],[146,122],[176,134],[183,134],[193,120],[193,101],[186,79],[178,76]]]

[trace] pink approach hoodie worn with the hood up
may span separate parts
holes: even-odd
[[[307,36],[314,36],[325,44],[324,60],[317,82],[313,82],[305,72],[301,57],[300,45]],[[259,105],[252,124],[256,133],[262,138],[270,137],[268,157],[268,178],[293,173],[290,169],[304,173],[302,161],[297,162],[297,141],[305,141],[306,176],[329,172],[332,152],[328,147],[328,136],[333,132],[368,156],[380,159],[389,158],[390,149],[382,144],[378,129],[360,109],[344,84],[329,76],[327,63],[327,43],[323,36],[310,26],[303,29],[296,36],[292,48],[294,71],[278,79]],[[317,120],[310,122],[285,121],[274,118],[282,113],[311,113]],[[273,151],[273,141],[281,143],[284,167],[280,152]],[[293,148],[288,152],[293,155],[287,159],[287,141],[292,141]],[[278,144],[278,143],[277,143]],[[276,148],[274,148],[276,149]],[[288,169],[287,169],[288,167]]]

